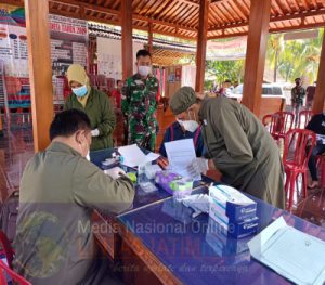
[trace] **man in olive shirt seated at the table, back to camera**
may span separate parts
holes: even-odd
[[[91,127],[83,112],[57,114],[50,138],[21,181],[14,268],[34,285],[107,284],[91,215],[128,209],[134,187],[127,177],[114,180],[86,159]]]

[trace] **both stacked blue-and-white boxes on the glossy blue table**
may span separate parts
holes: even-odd
[[[243,238],[258,230],[257,204],[239,191],[226,185],[209,187],[209,215],[229,235]]]

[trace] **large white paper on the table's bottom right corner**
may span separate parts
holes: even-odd
[[[251,256],[296,284],[325,282],[325,242],[288,226],[278,218],[248,247]]]

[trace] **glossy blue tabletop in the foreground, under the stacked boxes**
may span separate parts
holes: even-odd
[[[259,231],[283,216],[289,225],[325,241],[324,229],[253,199]],[[251,236],[227,237],[207,213],[193,219],[192,210],[172,197],[118,220],[183,284],[290,284],[252,259],[247,247]]]

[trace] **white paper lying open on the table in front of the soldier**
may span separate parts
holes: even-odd
[[[156,160],[160,155],[148,153],[145,155],[136,144],[121,146],[118,148],[119,154],[123,157],[123,165],[136,167]]]

